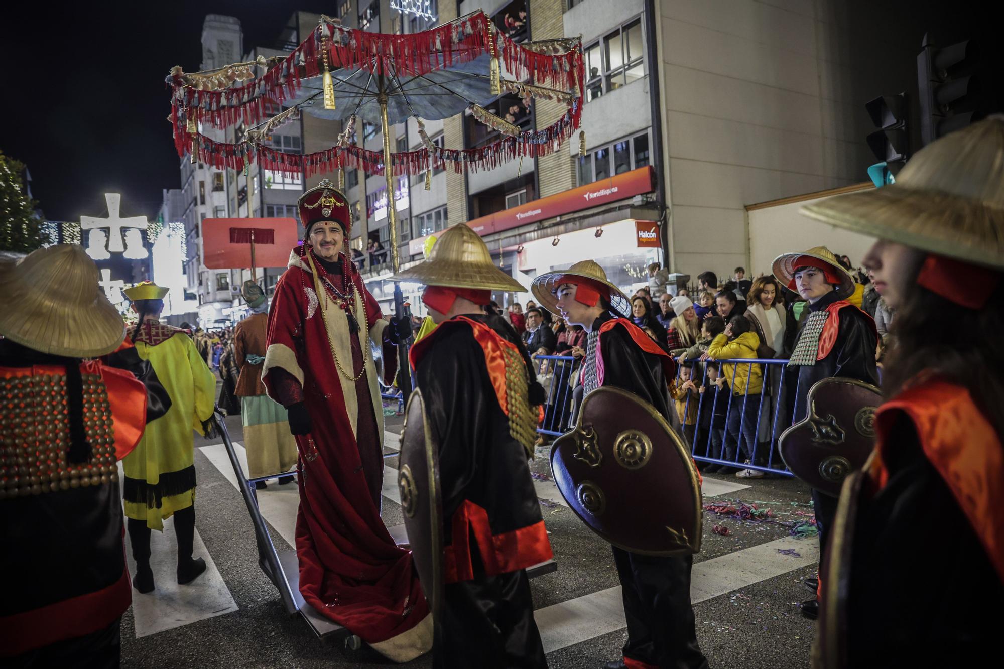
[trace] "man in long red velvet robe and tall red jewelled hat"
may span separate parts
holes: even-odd
[[[393,378],[410,324],[384,318],[344,253],[352,224],[344,195],[325,179],[298,207],[304,242],[275,286],[262,381],[286,408],[300,454],[300,593],[381,654],[407,662],[432,647],[432,618],[411,553],[380,515],[384,412],[369,345],[385,347]]]

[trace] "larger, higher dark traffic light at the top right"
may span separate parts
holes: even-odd
[[[925,145],[982,119],[982,85],[974,73],[979,48],[971,39],[937,47],[924,35],[917,56],[921,139]]]

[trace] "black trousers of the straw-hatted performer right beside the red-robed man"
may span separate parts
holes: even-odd
[[[436,669],[544,669],[526,572],[479,576],[446,586],[435,624]]]

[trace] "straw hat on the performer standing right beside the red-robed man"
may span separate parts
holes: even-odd
[[[495,266],[488,246],[464,225],[447,228],[433,246],[429,259],[394,275],[395,281],[426,285],[526,292],[526,288]]]

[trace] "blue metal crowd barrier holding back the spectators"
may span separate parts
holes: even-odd
[[[581,403],[576,374],[580,366],[567,356],[537,356],[535,360],[538,381],[547,394],[544,420],[537,432],[558,436],[571,429]],[[793,391],[786,387],[787,364],[786,360],[763,359],[694,360],[677,367],[671,418],[695,460],[728,468],[722,473],[753,469],[792,475],[777,451],[778,438],[791,425],[788,394],[798,392],[797,385]],[[716,383],[716,379],[722,381]],[[693,387],[684,390],[687,381]]]

